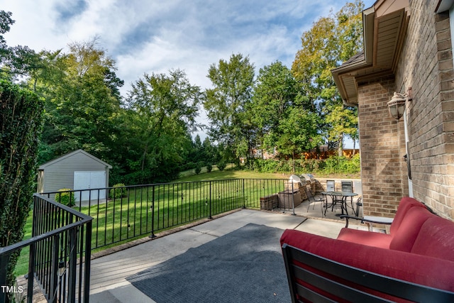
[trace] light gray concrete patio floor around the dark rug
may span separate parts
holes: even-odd
[[[90,302],[154,302],[131,285],[126,277],[162,263],[189,248],[201,246],[204,243],[226,235],[246,224],[262,224],[281,228],[294,228],[300,231],[315,233],[321,236],[336,238],[345,222],[341,221],[331,209],[326,218],[321,218],[320,204],[312,205],[307,210],[307,201],[292,211],[258,211],[240,209],[231,211],[212,220],[202,220],[196,224],[189,224],[174,231],[157,234],[157,238],[150,241],[143,238],[135,243],[118,246],[107,251],[94,254],[92,260],[90,281]],[[340,213],[340,210],[338,210]],[[350,226],[362,228],[362,226]],[[279,243],[276,243],[279,246]],[[127,247],[126,246],[126,247]],[[124,248],[124,249],[123,249]],[[112,251],[116,251],[111,253]]]

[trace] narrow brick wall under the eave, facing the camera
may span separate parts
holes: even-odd
[[[362,197],[369,216],[394,216],[408,194],[403,121],[393,119],[387,106],[394,87],[394,77],[358,83]]]

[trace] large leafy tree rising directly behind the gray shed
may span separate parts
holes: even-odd
[[[118,138],[118,87],[115,62],[96,46],[96,39],[69,45],[70,53],[43,51],[45,67],[31,83],[46,99],[41,161],[83,148],[109,159]],[[50,158],[50,159],[49,159]]]

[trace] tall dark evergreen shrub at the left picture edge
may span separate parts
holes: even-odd
[[[0,80],[0,247],[23,238],[35,192],[43,104],[33,92]],[[9,261],[9,285],[17,258]]]

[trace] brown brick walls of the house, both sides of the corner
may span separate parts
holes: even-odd
[[[438,1],[413,0],[394,76],[358,83],[362,194],[366,215],[392,216],[409,194],[404,119],[387,101],[412,88],[407,102],[413,194],[439,215],[454,219],[454,69],[448,12]]]

